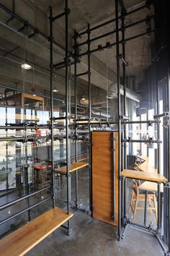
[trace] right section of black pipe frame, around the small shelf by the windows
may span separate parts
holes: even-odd
[[[118,2],[119,0],[115,0],[115,17],[116,17],[116,46],[117,46],[117,56],[120,56],[120,39],[119,39],[119,8],[118,8]],[[125,12],[125,9],[122,9],[122,12]],[[124,27],[124,17],[125,15],[122,15],[122,57],[123,59],[125,59],[125,27]],[[125,61],[122,61],[122,68],[123,68],[123,82],[124,82],[124,112],[123,114],[126,116],[126,111],[125,111],[125,107],[126,107],[126,86],[125,86]],[[117,57],[117,90],[120,90],[120,59],[119,57]],[[159,107],[158,107],[158,85],[157,85],[157,115],[156,115],[156,119],[153,123],[157,124],[157,129],[158,129],[158,137],[157,140],[153,141],[155,143],[157,143],[158,145],[158,174],[160,174],[160,113],[159,113]],[[120,93],[118,93],[118,116],[119,116],[119,161],[121,160],[121,153],[124,152],[124,161],[126,158],[126,152],[125,152],[125,148],[123,149],[123,146],[125,147],[125,143],[126,142],[144,142],[144,141],[140,141],[140,140],[130,140],[130,139],[126,139],[126,130],[125,130],[125,124],[130,124],[130,123],[134,123],[134,121],[127,121],[127,120],[123,120],[121,117],[121,109],[120,109]],[[138,121],[138,123],[141,123],[141,121]],[[124,127],[124,139],[122,139],[121,141],[121,133],[122,133],[122,124]],[[151,125],[149,120],[147,121],[148,125]],[[150,140],[148,140],[149,142]],[[150,141],[151,142],[151,141]],[[124,150],[124,151],[123,151]],[[124,164],[122,166],[126,166],[126,163],[124,162]],[[158,243],[160,244],[161,248],[164,251],[164,255],[168,256],[170,255],[170,252],[167,251],[166,247],[164,246],[164,243],[161,240],[161,190],[160,190],[160,186],[161,184],[158,183],[158,224],[157,224],[157,229],[153,230],[153,228],[151,226],[142,226],[142,225],[138,225],[137,223],[131,223],[130,219],[128,218],[128,215],[126,213],[126,200],[125,200],[125,196],[126,196],[126,179],[122,178],[121,176],[121,164],[119,163],[119,221],[118,221],[118,240],[120,241],[124,234],[125,231],[128,227],[128,225],[131,226],[135,226],[136,228],[140,229],[140,230],[145,230],[145,231],[151,231],[152,234],[154,234],[154,236],[156,237],[156,239],[158,240]],[[122,197],[124,197],[122,200]],[[123,214],[122,214],[123,212]],[[169,220],[170,220],[170,216],[169,216]],[[169,247],[170,247],[170,242],[169,242]]]

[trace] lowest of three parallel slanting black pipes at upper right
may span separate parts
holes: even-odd
[[[151,30],[151,33],[153,33],[153,32],[154,32],[154,30]],[[134,39],[136,39],[136,38],[140,38],[140,37],[142,37],[142,36],[144,36],[144,35],[148,35],[148,32],[141,33],[141,34],[139,34],[139,35],[134,35],[134,36],[132,36],[132,37],[130,37],[130,38],[126,38],[126,39],[124,40],[124,42],[128,42],[128,41],[134,40]],[[122,40],[120,40],[120,43],[123,43]],[[93,54],[94,52],[97,52],[97,51],[103,51],[104,49],[106,49],[106,48],[111,48],[111,47],[113,47],[113,46],[116,46],[116,43],[109,43],[109,45],[101,46],[101,47],[95,48],[95,49],[93,49],[93,50],[91,50],[91,51],[86,51],[86,52],[84,52],[84,53],[82,53],[82,54],[79,54],[79,57],[84,56],[84,55],[86,55],[86,54]]]

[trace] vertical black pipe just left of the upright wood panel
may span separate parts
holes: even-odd
[[[90,61],[90,25],[87,28],[87,57],[88,57],[88,86],[89,86],[89,120],[91,120],[91,61]],[[91,142],[91,125],[89,125],[89,140]],[[91,147],[89,146],[89,208],[92,213],[92,174],[91,174]]]

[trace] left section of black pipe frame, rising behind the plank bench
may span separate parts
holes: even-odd
[[[40,34],[42,35],[43,38],[47,39],[50,42],[50,125],[38,125],[36,122],[34,123],[27,123],[24,122],[22,124],[6,124],[4,126],[1,126],[0,129],[50,129],[51,131],[51,135],[50,135],[50,139],[51,139],[51,165],[52,165],[52,171],[51,171],[51,175],[52,175],[52,179],[51,179],[51,185],[48,187],[45,187],[43,189],[39,189],[37,192],[32,192],[29,195],[26,195],[24,197],[20,197],[17,200],[13,200],[12,202],[6,203],[5,205],[1,205],[0,210],[4,210],[5,208],[8,208],[11,205],[16,204],[17,202],[20,202],[22,200],[27,200],[27,208],[25,208],[24,210],[20,210],[18,213],[14,214],[13,216],[10,216],[9,218],[5,218],[3,221],[0,222],[0,225],[3,223],[6,223],[7,221],[10,221],[12,218],[15,218],[17,216],[19,216],[22,213],[27,212],[28,213],[28,218],[30,221],[30,210],[32,208],[35,208],[37,205],[42,204],[43,202],[46,202],[50,199],[53,200],[53,208],[55,208],[55,172],[54,172],[54,155],[53,155],[53,141],[55,139],[55,135],[53,132],[53,129],[58,128],[57,126],[54,125],[54,121],[55,118],[53,116],[53,69],[55,68],[53,65],[53,45],[58,46],[59,48],[61,48],[63,51],[65,51],[66,56],[65,56],[65,67],[66,67],[66,145],[67,145],[67,154],[66,154],[66,163],[67,163],[67,213],[69,214],[69,205],[70,202],[68,200],[69,198],[69,168],[68,168],[68,121],[69,121],[69,116],[68,116],[68,14],[70,13],[70,10],[68,9],[68,0],[65,1],[65,12],[62,15],[59,15],[58,17],[53,17],[53,11],[52,11],[52,7],[50,7],[50,36],[45,35],[44,33],[42,33],[40,30],[38,30],[37,28],[33,27],[32,25],[30,25],[29,22],[23,20],[21,17],[19,17],[17,14],[15,14],[14,12],[12,12],[10,9],[6,8],[3,4],[0,4],[0,8],[4,9],[4,11],[6,11],[7,13],[11,14],[13,18],[16,18],[17,20],[19,20],[20,22],[22,22],[24,24],[24,26],[19,29],[19,33],[22,32],[22,30],[24,30],[25,27],[30,27],[34,32],[32,33],[32,35],[29,35],[28,38],[32,38],[35,34]],[[59,43],[57,43],[54,39],[53,39],[53,22],[59,18],[59,17],[63,17],[65,16],[65,24],[66,24],[66,48],[64,48],[63,46],[61,46]],[[62,127],[63,128],[63,127]],[[28,141],[35,141],[40,139],[40,138],[48,138],[48,136],[41,136],[41,137],[31,137],[31,136],[27,136],[24,135],[23,137],[5,137],[5,138],[1,138],[1,140],[8,140],[8,141],[22,141],[22,142],[28,142]],[[26,149],[27,150],[27,149]],[[35,203],[34,205],[30,206],[30,197],[39,194],[40,192],[43,191],[47,191],[48,189],[50,189],[51,191],[51,195],[49,197],[46,197],[44,200],[40,200],[39,202]],[[67,221],[68,225],[67,226],[63,226],[63,228],[67,229],[68,234],[70,234],[71,231],[71,227],[70,227],[70,222]]]

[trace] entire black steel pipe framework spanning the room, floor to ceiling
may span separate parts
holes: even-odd
[[[122,7],[122,12],[121,14],[119,14],[119,4]],[[53,135],[53,128],[54,128],[54,117],[53,117],[53,69],[58,67],[58,68],[66,68],[66,163],[67,163],[67,208],[68,208],[68,213],[69,213],[69,206],[70,206],[70,202],[69,202],[69,181],[68,179],[70,178],[70,174],[69,174],[69,169],[68,169],[68,164],[69,164],[69,153],[68,153],[68,126],[69,126],[69,116],[68,116],[68,65],[69,64],[74,64],[74,89],[75,89],[75,119],[77,119],[77,95],[76,95],[76,77],[79,77],[80,75],[88,75],[88,84],[89,84],[89,123],[88,124],[78,124],[75,122],[75,135],[77,135],[77,127],[80,125],[89,125],[89,132],[91,131],[91,125],[102,125],[102,124],[107,124],[107,125],[111,125],[111,124],[118,124],[118,132],[119,132],[119,221],[118,221],[118,239],[122,239],[123,233],[122,233],[122,228],[124,228],[124,231],[127,229],[128,224],[130,223],[130,221],[128,220],[127,216],[126,216],[126,212],[125,212],[125,208],[126,208],[126,202],[125,202],[125,188],[126,185],[124,184],[125,181],[123,181],[123,179],[121,179],[121,171],[122,168],[126,167],[126,143],[127,142],[133,142],[133,140],[127,140],[126,139],[126,128],[125,125],[126,124],[130,124],[130,123],[134,123],[134,121],[127,121],[125,119],[122,118],[122,114],[124,116],[126,116],[126,85],[125,85],[125,66],[126,66],[126,61],[125,61],[125,43],[130,41],[130,40],[134,40],[135,38],[139,38],[141,36],[144,35],[149,35],[151,33],[153,33],[153,30],[147,30],[146,33],[141,33],[139,35],[134,35],[133,37],[130,38],[125,38],[125,29],[128,29],[128,27],[133,27],[135,25],[138,25],[142,22],[148,22],[148,19],[144,19],[144,20],[140,20],[138,22],[134,22],[131,25],[125,26],[125,17],[127,17],[128,15],[134,14],[135,12],[140,12],[141,10],[145,9],[146,7],[148,7],[148,2],[146,1],[146,3],[144,3],[141,7],[138,7],[136,9],[133,9],[130,12],[126,12],[126,9],[123,5],[123,2],[121,0],[115,0],[115,18],[112,20],[109,20],[107,22],[104,22],[102,24],[99,24],[95,27],[90,27],[88,25],[87,29],[84,30],[81,33],[77,33],[75,31],[74,35],[73,35],[73,39],[74,39],[74,54],[73,54],[73,59],[74,62],[71,63],[69,61],[69,56],[68,56],[68,14],[70,13],[70,10],[68,9],[68,0],[65,1],[65,9],[64,12],[61,14],[58,14],[57,16],[53,17],[53,13],[52,13],[52,8],[50,7],[50,37],[48,37],[47,35],[43,34],[42,32],[40,32],[40,30],[38,30],[37,28],[33,27],[32,25],[30,25],[29,22],[27,22],[26,20],[23,20],[21,17],[19,17],[17,14],[15,14],[14,12],[12,12],[10,9],[7,9],[6,7],[4,7],[3,4],[0,4],[1,9],[4,9],[4,11],[8,12],[9,14],[12,15],[12,17],[16,18],[17,20],[19,20],[20,22],[22,22],[24,24],[24,26],[19,30],[20,32],[22,32],[22,30],[24,30],[24,27],[30,27],[33,30],[32,35],[29,36],[29,38],[31,38],[32,36],[34,36],[35,34],[40,34],[42,35],[43,38],[47,39],[50,41],[50,102],[51,102],[51,140],[53,142],[54,139],[54,135]],[[66,22],[66,47],[64,48],[63,46],[61,46],[60,44],[58,44],[57,42],[55,42],[55,40],[53,39],[53,22],[55,20],[58,20],[60,17],[65,17],[65,22]],[[150,22],[151,19],[153,18],[153,16],[150,17]],[[119,27],[119,20],[121,20],[122,22],[122,27]],[[97,38],[90,38],[90,33],[91,31],[97,30],[100,27],[104,27],[105,25],[109,25],[110,23],[115,22],[116,24],[116,30],[110,32],[110,33],[105,33],[104,35],[100,35]],[[122,39],[120,40],[120,35],[119,32],[121,31],[122,33]],[[93,42],[94,40],[99,40],[100,38],[106,37],[107,35],[112,35],[112,34],[116,34],[116,42],[114,43],[109,43],[107,42],[107,44],[105,46],[98,46],[98,48],[92,49],[91,50],[91,42]],[[77,39],[81,37],[81,35],[87,35],[88,39],[86,40],[86,42],[83,43],[77,43]],[[82,54],[79,53],[79,47],[87,44],[88,46],[88,50]],[[65,51],[65,60],[61,63],[61,64],[53,64],[53,44],[58,46],[59,48],[61,48],[63,51]],[[122,69],[123,69],[123,85],[124,85],[124,109],[123,111],[121,110],[121,102],[120,102],[120,44],[122,45]],[[105,48],[112,48],[113,46],[116,46],[116,51],[117,51],[117,92],[118,92],[118,122],[100,122],[98,124],[93,124],[91,122],[91,72],[90,72],[90,56],[92,53],[96,52],[96,51],[102,51]],[[88,70],[87,72],[84,72],[82,74],[77,74],[77,69],[76,69],[76,64],[79,63],[79,58],[81,56],[88,56]],[[124,61],[123,61],[124,60]],[[157,120],[157,121],[156,121]],[[153,120],[153,121],[147,121],[148,125],[151,125],[153,123],[157,123],[157,126],[159,127],[160,125],[160,121],[158,119]],[[142,121],[138,121],[138,123],[142,123]],[[122,126],[124,127],[123,129],[123,137],[122,137]],[[4,128],[4,127],[3,127]],[[9,129],[8,127],[6,127],[6,129]],[[17,128],[16,128],[17,129]],[[158,128],[159,130],[159,128]],[[140,142],[143,142],[143,140],[141,140]],[[149,141],[147,141],[149,142]],[[160,143],[159,140],[159,135],[156,141],[154,141],[156,143]],[[122,150],[122,145],[124,145],[124,149]],[[54,161],[53,161],[53,145],[52,145],[52,174],[53,174],[53,182],[54,182]],[[158,146],[159,149],[159,146]],[[158,150],[159,151],[159,150]],[[77,161],[77,143],[75,143],[75,152],[76,152],[76,161]],[[123,155],[122,155],[123,152]],[[123,158],[122,158],[123,156]],[[159,173],[159,153],[158,153],[158,173]],[[91,160],[91,157],[90,157]],[[91,167],[91,163],[89,165]],[[52,182],[52,183],[53,183]],[[91,208],[91,168],[90,168],[90,208]],[[55,207],[55,198],[54,198],[54,186],[52,184],[52,197],[53,197],[53,207]],[[48,189],[48,188],[46,188]],[[39,190],[38,192],[40,192],[41,190]],[[38,193],[37,192],[37,193]],[[33,194],[30,194],[30,196],[32,196]],[[122,196],[124,195],[124,200],[122,200]],[[160,184],[158,184],[158,197],[160,196]],[[170,197],[170,196],[169,196]],[[24,197],[21,199],[24,200]],[[16,200],[17,202],[17,200]],[[14,202],[15,203],[15,202]],[[13,202],[12,202],[13,204]],[[78,205],[78,174],[76,172],[76,206]],[[170,203],[169,203],[170,205]],[[7,206],[2,206],[2,207],[7,207]],[[123,211],[123,215],[122,215],[122,208],[124,209]],[[158,215],[160,214],[160,202],[158,200]],[[28,208],[27,210],[30,210],[30,208]],[[160,218],[158,217],[158,229],[160,227]],[[169,223],[170,223],[170,214],[169,214]],[[130,225],[136,226],[139,229],[144,229],[144,230],[150,230],[150,228],[147,228],[145,226],[140,226],[136,223],[130,223]],[[66,229],[68,229],[68,232],[70,231],[70,225],[69,225],[69,221],[68,221],[68,226],[66,227]],[[170,229],[169,229],[170,230]],[[164,244],[161,242],[160,236],[159,236],[159,230],[154,231],[156,238],[158,239],[158,242],[161,244],[162,249],[164,249],[164,253],[165,255],[170,255],[169,252],[166,251],[166,249],[164,248]],[[170,251],[170,242],[169,242],[169,251]]]

